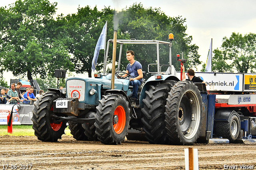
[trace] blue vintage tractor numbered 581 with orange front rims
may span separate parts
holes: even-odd
[[[133,128],[145,133],[152,144],[196,142],[204,119],[202,97],[194,83],[178,79],[172,65],[172,41],[117,40],[120,55],[114,89],[111,89],[112,76],[106,73],[108,47],[112,42],[108,40],[103,73],[95,74],[94,78],[69,78],[66,88],[49,89],[34,102],[32,121],[38,139],[57,141],[68,123],[76,140],[120,144]],[[137,103],[130,99],[129,75],[117,78],[123,44],[156,45],[156,63],[148,64],[151,77],[140,85]],[[162,56],[168,57],[167,64],[160,64],[159,45],[168,45],[169,56]]]

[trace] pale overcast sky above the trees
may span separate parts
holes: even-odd
[[[0,0],[1,6],[15,0]],[[192,36],[192,43],[199,47],[200,60],[206,63],[210,41],[212,49],[220,47],[224,36],[230,37],[232,32],[256,34],[256,0],[50,0],[58,2],[56,14],[64,15],[77,12],[78,5],[84,7],[97,6],[98,10],[110,6],[121,10],[133,3],[142,3],[144,8],[161,8],[167,16],[186,18],[186,33]],[[168,36],[168,35],[166,35]],[[175,40],[175,35],[174,35]],[[198,67],[200,69],[201,67]]]

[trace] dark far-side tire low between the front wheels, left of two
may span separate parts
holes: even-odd
[[[73,138],[76,140],[88,140],[88,137],[84,134],[82,123],[69,122],[68,128],[70,129],[70,133],[73,135]]]

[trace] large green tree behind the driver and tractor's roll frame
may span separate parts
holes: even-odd
[[[121,34],[128,34],[130,38],[137,40],[161,40],[169,41],[168,34],[174,34],[172,41],[172,65],[176,70],[180,69],[180,62],[176,60],[176,54],[184,52],[184,58],[187,59],[189,67],[196,67],[201,64],[198,55],[198,46],[191,44],[192,36],[186,34],[186,19],[178,17],[169,17],[159,8],[144,8],[141,3],[133,4],[131,7],[119,12],[119,26]],[[125,49],[123,47],[123,49]],[[149,63],[156,63],[155,45],[127,45],[127,50],[133,50],[136,53],[135,59],[142,63],[142,68],[146,71]],[[169,62],[169,49],[166,45],[160,46],[160,63]],[[125,56],[125,50],[124,54]],[[124,59],[123,66],[126,68],[128,61]]]

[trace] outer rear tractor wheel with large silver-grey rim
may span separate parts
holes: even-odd
[[[192,145],[199,137],[203,104],[198,87],[192,81],[176,83],[168,93],[165,122],[172,144]]]

